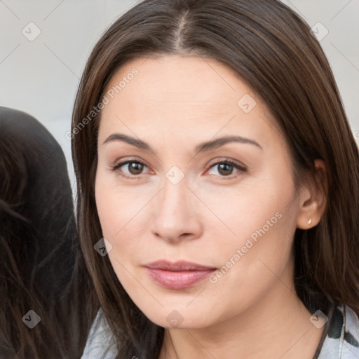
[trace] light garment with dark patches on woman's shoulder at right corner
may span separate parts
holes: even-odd
[[[334,307],[318,359],[359,358],[359,319],[348,306]]]

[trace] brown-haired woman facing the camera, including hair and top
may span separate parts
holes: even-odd
[[[83,358],[358,357],[358,148],[290,8],[143,1],[93,49],[71,137]]]

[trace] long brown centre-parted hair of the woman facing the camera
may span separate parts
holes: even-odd
[[[317,178],[314,160],[324,161],[327,205],[317,226],[295,233],[294,284],[304,303],[311,291],[359,313],[358,147],[309,26],[276,0],[146,0],[118,18],[93,48],[72,117],[79,240],[118,358],[134,352],[157,358],[163,328],[128,297],[109,258],[93,250],[102,238],[94,186],[101,112],[93,109],[122,65],[149,55],[208,57],[241,76],[276,118],[297,189],[308,176]]]

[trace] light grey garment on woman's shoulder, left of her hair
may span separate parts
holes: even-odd
[[[100,309],[88,334],[81,359],[113,359],[115,357],[114,338],[107,320],[104,318],[104,313]]]

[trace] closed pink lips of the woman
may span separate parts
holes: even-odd
[[[154,282],[168,289],[191,287],[217,270],[217,268],[183,261],[175,263],[157,261],[144,267]]]

